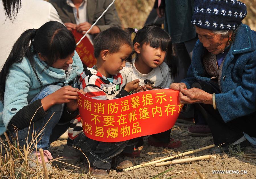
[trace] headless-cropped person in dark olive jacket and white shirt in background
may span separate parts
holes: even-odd
[[[111,0],[50,0],[49,3],[55,7],[60,19],[69,29],[77,29],[85,32],[100,17],[103,11],[110,5]],[[97,24],[90,30],[89,34],[98,34],[112,26],[121,27],[115,5],[100,18]],[[93,39],[93,37],[92,37]]]

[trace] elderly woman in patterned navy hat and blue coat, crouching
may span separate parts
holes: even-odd
[[[214,144],[222,144],[212,153],[227,152],[230,144],[256,147],[256,32],[241,23],[246,14],[240,1],[195,0],[199,40],[187,78],[170,86],[203,115]]]

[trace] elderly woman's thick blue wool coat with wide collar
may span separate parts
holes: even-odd
[[[221,93],[215,95],[216,106],[224,122],[256,111],[255,43],[256,32],[241,24],[223,61],[219,84]],[[198,40],[187,78],[181,81],[188,89],[195,80],[210,81],[210,78],[204,77],[205,71],[201,61],[203,51],[203,44]]]

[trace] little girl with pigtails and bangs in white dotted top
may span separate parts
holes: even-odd
[[[132,63],[127,62],[120,71],[124,82],[139,79],[142,88],[138,88],[137,92],[169,88],[173,77],[177,74],[177,62],[170,35],[162,28],[153,25],[146,25],[140,30],[127,28],[126,31],[129,36],[133,33],[136,35],[133,39],[134,49],[129,57]],[[132,58],[133,54],[134,58]],[[170,139],[171,130],[150,135],[148,144],[156,147],[180,147],[180,141]],[[142,144],[143,140],[140,139],[137,147]],[[133,154],[133,157],[139,155],[137,151]]]

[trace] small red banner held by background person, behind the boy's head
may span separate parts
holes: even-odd
[[[78,42],[83,34],[77,32],[77,30],[72,31],[75,36],[76,42]],[[87,67],[92,68],[96,64],[96,58],[94,57],[94,48],[90,40],[85,36],[84,39],[77,45],[76,51],[82,61]]]

